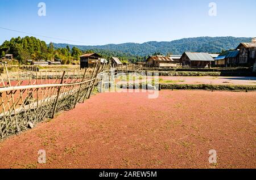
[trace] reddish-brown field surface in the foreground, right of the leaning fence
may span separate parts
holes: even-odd
[[[1,142],[0,168],[255,168],[255,123],[256,92],[101,93]]]

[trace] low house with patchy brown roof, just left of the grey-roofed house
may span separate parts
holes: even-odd
[[[171,57],[164,55],[150,56],[147,58],[147,66],[149,67],[177,67],[179,63]]]

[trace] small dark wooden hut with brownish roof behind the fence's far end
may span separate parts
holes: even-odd
[[[88,68],[96,66],[101,61],[101,55],[97,53],[84,54],[80,56],[80,68]]]

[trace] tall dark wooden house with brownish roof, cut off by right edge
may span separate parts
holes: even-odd
[[[256,38],[249,43],[242,42],[237,49],[240,50],[239,64],[253,66],[256,61]]]

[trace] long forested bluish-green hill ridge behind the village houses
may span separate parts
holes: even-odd
[[[183,38],[170,42],[156,42],[150,41],[143,44],[125,43],[125,44],[108,44],[102,46],[79,46],[69,45],[71,48],[85,50],[94,50],[94,52],[101,52],[102,50],[108,52],[119,52],[120,54],[146,56],[155,52],[162,54],[182,54],[183,52],[209,52],[218,53],[222,50],[235,49],[240,42],[250,42],[251,38],[247,37],[195,37]],[[54,44],[55,48],[64,48],[68,44]]]

